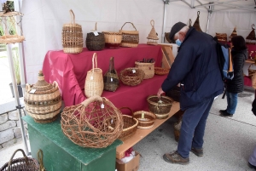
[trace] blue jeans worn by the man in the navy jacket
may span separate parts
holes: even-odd
[[[182,157],[189,157],[191,146],[202,148],[207,117],[212,107],[213,98],[187,109],[183,113],[182,126],[178,139],[177,152]]]

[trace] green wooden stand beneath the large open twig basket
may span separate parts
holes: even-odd
[[[114,171],[116,147],[122,141],[115,140],[106,148],[84,148],[75,145],[62,133],[61,117],[53,123],[36,123],[30,116],[22,117],[28,125],[32,157],[38,159],[38,150],[44,153],[46,170]]]

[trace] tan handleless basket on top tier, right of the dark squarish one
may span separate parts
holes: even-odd
[[[122,42],[122,33],[102,31],[105,38],[105,48],[119,48]]]

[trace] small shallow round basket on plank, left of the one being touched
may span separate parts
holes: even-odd
[[[149,111],[136,111],[133,116],[138,120],[137,128],[152,128],[154,126],[154,113]]]

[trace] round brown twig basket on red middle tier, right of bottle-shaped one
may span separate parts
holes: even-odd
[[[125,68],[119,74],[121,82],[129,86],[137,86],[142,83],[144,76],[144,71],[138,68]]]

